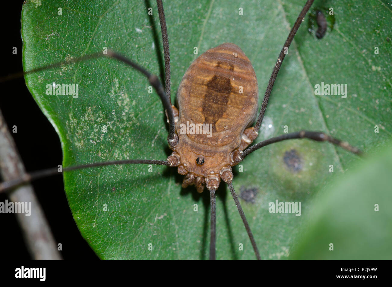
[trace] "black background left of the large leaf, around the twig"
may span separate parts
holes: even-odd
[[[5,1],[2,5],[2,55],[0,77],[22,71],[22,38],[20,35],[20,15],[24,1]],[[7,18],[8,17],[8,18]],[[17,54],[12,53],[17,47]],[[56,167],[62,163],[60,139],[27,90],[24,78],[2,83],[0,109],[9,131],[22,157],[27,172]],[[12,126],[17,133],[12,133]],[[65,197],[61,175],[46,177],[33,182],[34,190],[42,205],[55,242],[62,243],[64,259],[98,259],[87,242],[82,238]],[[5,202],[7,196],[0,195]],[[20,260],[31,259],[15,214],[0,214],[3,247],[0,258]]]

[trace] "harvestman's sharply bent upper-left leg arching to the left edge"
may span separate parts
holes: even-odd
[[[101,57],[109,57],[109,58],[114,58],[116,60],[119,60],[120,62],[123,62],[123,63],[127,64],[128,66],[131,66],[132,68],[138,70],[140,73],[142,73],[143,75],[145,75],[147,77],[147,79],[149,80],[151,85],[154,87],[154,89],[158,93],[158,95],[162,101],[163,107],[166,109],[168,117],[169,117],[169,135],[168,135],[167,139],[171,140],[171,141],[174,140],[176,135],[174,134],[174,115],[173,115],[173,111],[171,108],[171,102],[168,100],[168,98],[165,94],[165,91],[163,90],[163,86],[162,86],[160,80],[158,79],[158,77],[154,74],[151,74],[149,71],[147,71],[145,68],[139,66],[135,62],[132,62],[128,58],[126,58],[116,52],[113,52],[111,50],[108,50],[107,54],[103,54],[102,52],[98,52],[98,53],[94,53],[91,55],[85,55],[82,57],[73,58],[68,61],[58,62],[58,63],[51,64],[48,66],[43,66],[43,67],[40,67],[37,69],[32,69],[30,71],[11,74],[11,75],[8,75],[7,77],[0,78],[0,83],[5,82],[7,80],[20,78],[20,77],[23,77],[24,75],[28,75],[31,73],[43,71],[46,69],[56,68],[56,67],[60,67],[62,65],[66,65],[66,64],[71,64],[71,63],[76,63],[76,62],[81,62],[81,61],[95,59],[95,58],[101,58]]]

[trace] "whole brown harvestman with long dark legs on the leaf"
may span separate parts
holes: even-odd
[[[267,108],[268,100],[272,87],[280,66],[285,58],[287,50],[299,28],[301,22],[309,11],[314,0],[308,0],[299,14],[294,26],[281,52],[278,60],[272,70],[267,89],[263,98],[260,113],[256,124],[249,127],[254,122],[257,104],[258,104],[258,86],[252,64],[245,56],[242,50],[235,44],[225,43],[218,47],[209,49],[198,57],[186,71],[181,80],[178,89],[179,109],[172,106],[170,99],[170,53],[169,38],[165,14],[163,11],[162,0],[157,0],[158,13],[161,23],[163,51],[165,57],[165,89],[156,75],[132,62],[126,57],[119,55],[114,51],[108,51],[107,54],[95,53],[79,58],[73,58],[66,62],[59,62],[49,66],[33,69],[24,73],[10,75],[0,79],[1,82],[22,77],[29,73],[35,73],[44,69],[58,67],[64,64],[70,64],[99,57],[109,57],[119,60],[132,68],[141,72],[154,89],[157,91],[169,122],[169,135],[167,141],[173,153],[166,161],[162,160],[120,160],[109,161],[105,163],[91,163],[88,165],[69,166],[63,168],[63,172],[78,170],[106,165],[123,165],[123,164],[154,164],[177,166],[178,172],[185,175],[182,186],[195,185],[198,192],[202,192],[204,186],[210,192],[211,198],[211,241],[210,241],[210,259],[215,259],[215,239],[216,239],[216,198],[215,192],[222,179],[229,186],[234,202],[238,208],[241,219],[247,230],[252,247],[258,260],[260,254],[254,241],[249,224],[241,208],[240,201],[232,185],[233,174],[231,167],[240,163],[247,155],[262,148],[263,146],[284,141],[287,139],[312,139],[314,141],[328,141],[341,146],[342,148],[354,154],[361,154],[358,148],[342,142],[323,132],[300,131],[286,133],[278,137],[272,137],[258,144],[249,146],[258,136],[261,122]],[[231,80],[233,79],[233,80]],[[243,93],[238,92],[239,86],[243,87]],[[234,103],[229,105],[228,103]],[[197,107],[197,108],[194,108]],[[180,133],[180,124],[186,121],[194,123],[212,124],[212,137],[207,138],[202,134],[183,134]],[[0,192],[9,190],[17,185],[22,185],[34,179],[42,178],[48,175],[58,174],[58,169],[47,169],[6,181],[0,184]]]

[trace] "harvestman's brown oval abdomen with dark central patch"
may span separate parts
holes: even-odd
[[[187,122],[212,124],[211,137],[187,137],[195,143],[234,150],[254,121],[257,105],[257,79],[250,60],[237,45],[222,44],[200,55],[185,72],[178,88],[177,132]]]

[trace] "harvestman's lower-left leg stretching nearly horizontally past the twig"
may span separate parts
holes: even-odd
[[[104,163],[89,163],[87,165],[69,166],[69,167],[63,168],[62,172],[68,172],[71,170],[78,170],[78,169],[97,167],[97,166],[129,165],[129,164],[136,164],[136,163],[170,166],[169,161],[158,161],[158,160],[149,160],[149,159],[125,159],[122,161],[107,161]],[[25,174],[22,177],[18,177],[16,179],[0,183],[0,193],[4,192],[6,190],[9,190],[15,186],[22,185],[24,183],[28,183],[30,181],[33,181],[35,179],[39,179],[39,178],[50,176],[50,175],[61,174],[62,172],[59,172],[58,168],[48,168],[45,170],[38,170],[36,172],[31,172],[30,174]]]

